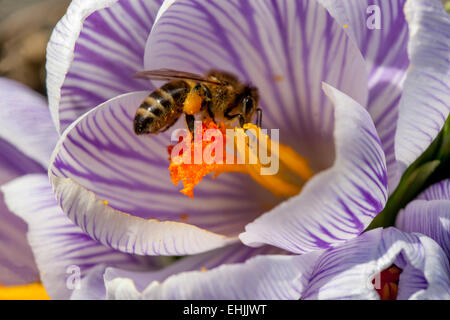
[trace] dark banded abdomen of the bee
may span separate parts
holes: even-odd
[[[186,81],[177,80],[153,91],[136,112],[135,133],[158,133],[173,125],[183,111],[183,102],[190,90]]]

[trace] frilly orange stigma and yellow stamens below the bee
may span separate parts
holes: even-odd
[[[216,178],[224,172],[238,172],[248,174],[276,196],[294,196],[313,171],[304,157],[279,143],[275,133],[271,139],[253,124],[227,129],[212,121],[201,123],[194,139],[186,134],[177,145],[168,147],[172,182],[182,182],[180,192],[193,198],[194,187],[209,173]]]

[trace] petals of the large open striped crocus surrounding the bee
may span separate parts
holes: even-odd
[[[386,201],[385,156],[360,106],[369,94],[367,65],[326,9],[315,1],[235,7],[182,0],[149,33],[153,17],[136,22],[149,12],[144,7],[157,6],[75,1],[50,40],[49,104],[61,138],[49,175],[71,220],[103,244],[144,255],[195,254],[239,239],[301,253],[364,230]],[[233,173],[205,177],[194,199],[179,194],[167,170],[169,133],[130,130],[154,88],[132,75],[158,68],[219,68],[251,82],[264,126],[280,128],[281,143],[306,157],[316,175],[287,201]],[[359,104],[349,107],[347,95]],[[336,114],[334,99],[342,100]]]

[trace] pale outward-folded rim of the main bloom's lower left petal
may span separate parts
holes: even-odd
[[[115,210],[71,178],[52,175],[51,181],[57,201],[69,218],[94,239],[122,252],[195,254],[236,241],[189,224],[143,219]]]

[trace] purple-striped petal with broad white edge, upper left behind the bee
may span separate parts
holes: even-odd
[[[162,0],[75,0],[47,47],[47,88],[59,132],[122,93],[146,90],[145,43]]]

